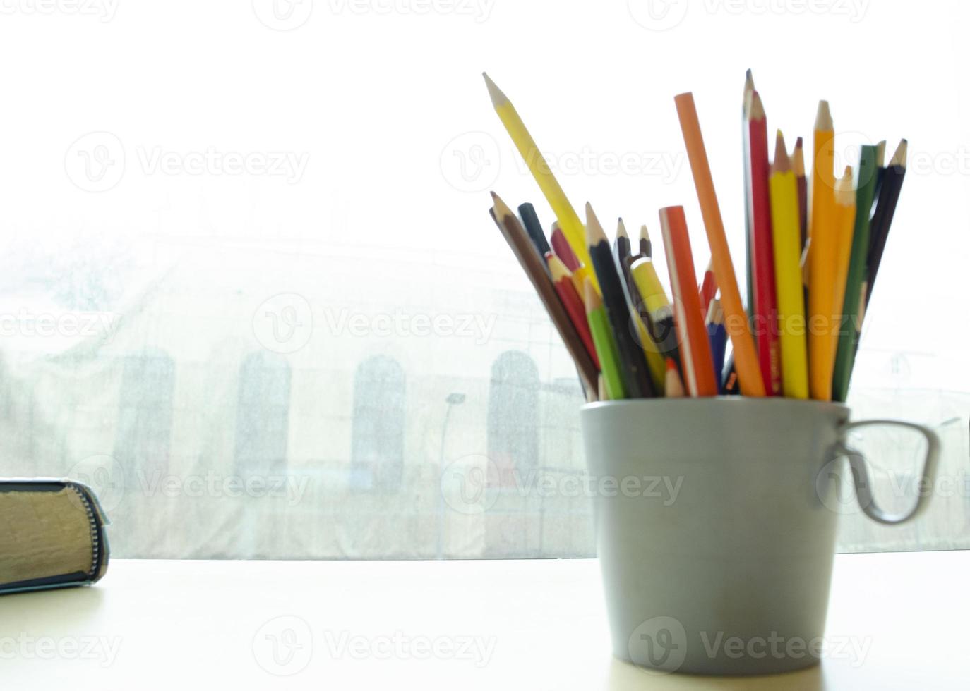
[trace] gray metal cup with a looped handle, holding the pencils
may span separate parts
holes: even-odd
[[[848,459],[859,506],[884,523],[844,405],[782,398],[590,403],[581,424],[616,657],[660,672],[753,675],[819,662]],[[605,479],[605,480],[604,480]]]

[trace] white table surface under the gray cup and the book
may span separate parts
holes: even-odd
[[[0,597],[0,688],[968,689],[968,567],[839,555],[825,637],[864,652],[715,678],[614,660],[592,559],[115,560],[93,587]]]

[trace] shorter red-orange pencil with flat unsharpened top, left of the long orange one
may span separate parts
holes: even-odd
[[[684,207],[666,206],[661,209],[660,215],[663,249],[670,272],[674,315],[681,344],[684,384],[692,396],[717,395],[718,385],[714,379],[711,344],[700,316],[694,255],[691,253]]]

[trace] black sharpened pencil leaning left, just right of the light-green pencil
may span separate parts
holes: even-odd
[[[599,279],[603,306],[606,308],[606,316],[609,317],[609,323],[616,338],[624,389],[630,398],[650,397],[654,395],[654,388],[647,371],[643,350],[633,334],[634,326],[623,283],[616,263],[613,261],[609,241],[590,204],[586,204],[586,237],[589,242],[588,252],[593,262],[593,270]]]

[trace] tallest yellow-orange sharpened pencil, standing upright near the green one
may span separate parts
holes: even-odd
[[[832,311],[835,290],[835,183],[833,179],[832,115],[820,101],[815,118],[812,158],[812,204],[808,220],[808,363],[809,393],[816,400],[832,398],[835,332]]]

